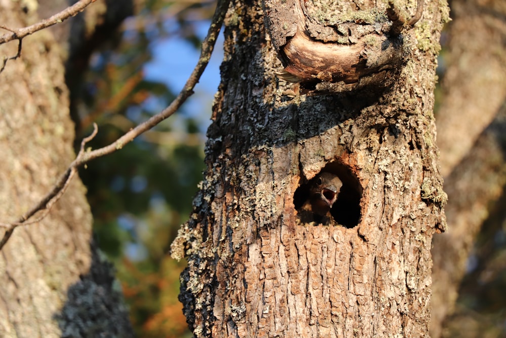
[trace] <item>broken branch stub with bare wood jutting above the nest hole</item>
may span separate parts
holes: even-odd
[[[264,0],[264,16],[284,66],[278,78],[300,83],[307,94],[381,93],[405,63],[400,34],[405,20],[393,3],[382,13],[343,4],[329,9],[305,0]]]

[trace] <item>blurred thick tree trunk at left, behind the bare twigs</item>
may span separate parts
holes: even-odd
[[[32,3],[0,1],[0,22],[36,22]],[[1,48],[13,56],[17,42]],[[0,220],[10,222],[47,194],[74,159],[74,135],[63,59],[48,30],[26,37],[22,57],[9,61],[0,78]],[[44,220],[16,229],[3,248],[0,336],[132,335],[112,267],[91,243],[85,194],[74,178]]]

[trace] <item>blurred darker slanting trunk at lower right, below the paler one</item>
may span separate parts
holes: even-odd
[[[449,230],[445,236],[435,236],[433,242],[434,302],[431,318],[433,338],[442,336],[444,328],[451,324],[447,317],[454,311],[476,236],[483,222],[491,216],[489,210],[494,207],[493,202],[498,201],[504,193],[505,121],[506,109],[503,108],[492,124],[480,135],[469,154],[445,180],[448,198],[451,201],[445,209]],[[494,246],[490,245],[490,250],[492,247]],[[468,331],[467,334],[480,335],[473,331]]]

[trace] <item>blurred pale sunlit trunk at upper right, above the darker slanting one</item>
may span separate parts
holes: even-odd
[[[451,13],[437,115],[444,177],[470,152],[506,97],[504,1],[454,0]]]

